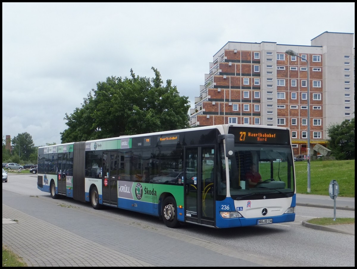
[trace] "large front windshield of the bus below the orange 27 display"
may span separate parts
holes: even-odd
[[[224,156],[221,159],[224,160]],[[259,194],[261,199],[261,194],[267,192],[274,192],[277,197],[294,194],[290,146],[236,144],[234,156],[228,159],[228,169],[224,161],[222,168],[222,178],[229,178],[228,182],[224,182],[227,184],[227,195],[233,199],[247,194]]]

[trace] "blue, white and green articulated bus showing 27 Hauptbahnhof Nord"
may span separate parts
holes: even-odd
[[[223,124],[44,146],[37,173],[53,199],[159,216],[170,228],[295,220],[289,128]]]

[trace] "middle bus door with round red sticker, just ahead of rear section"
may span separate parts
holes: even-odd
[[[118,205],[117,151],[103,152],[103,204]]]

